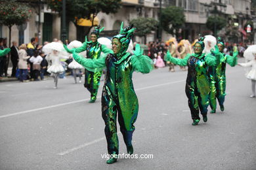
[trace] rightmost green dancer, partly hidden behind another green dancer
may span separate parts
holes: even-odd
[[[226,63],[228,63],[231,67],[234,67],[237,64],[238,60],[238,52],[234,52],[233,56],[229,56],[223,53],[224,41],[221,39],[221,37],[218,38],[217,46],[222,54],[220,58],[220,63],[216,66],[215,70],[215,83],[213,84],[213,86],[215,86],[215,90],[213,92],[213,95],[211,95],[210,97],[211,113],[216,112],[216,97],[219,101],[221,111],[224,111],[224,99],[226,95]]]

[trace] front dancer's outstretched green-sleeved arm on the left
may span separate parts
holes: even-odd
[[[106,56],[107,54],[104,54],[100,56],[100,58],[98,59],[96,58],[91,59],[91,58],[83,58],[82,56],[79,56],[75,51],[73,52],[73,58],[75,59],[75,61],[83,65],[85,69],[93,72],[106,67],[106,63],[105,63]]]

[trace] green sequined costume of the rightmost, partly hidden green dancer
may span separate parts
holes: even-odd
[[[224,43],[219,41],[218,44],[220,43],[224,47]],[[226,63],[231,67],[234,67],[237,64],[237,55],[238,52],[235,52],[233,56],[222,53],[220,55],[220,63],[216,67],[209,68],[209,80],[211,82],[209,101],[213,113],[217,107],[216,97],[219,101],[221,110],[224,110],[224,99],[226,95]]]

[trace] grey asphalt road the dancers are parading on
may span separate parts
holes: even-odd
[[[242,59],[240,59],[242,61]],[[167,67],[134,73],[139,116],[134,154],[106,164],[98,100],[69,76],[41,82],[0,83],[0,169],[256,169],[256,99],[242,67],[226,68],[225,110],[192,126],[184,93],[186,71]],[[202,116],[201,116],[202,117]],[[118,127],[119,131],[119,127]],[[119,134],[119,153],[126,154]]]

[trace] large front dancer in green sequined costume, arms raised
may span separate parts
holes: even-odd
[[[139,104],[137,95],[133,88],[133,72],[150,73],[153,69],[152,59],[143,56],[143,50],[139,44],[136,45],[134,54],[127,51],[129,42],[135,28],[125,27],[121,24],[119,35],[113,37],[112,48],[114,54],[102,55],[100,58],[87,59],[73,52],[75,61],[90,71],[97,71],[106,67],[106,80],[102,91],[102,118],[105,122],[105,135],[108,143],[108,154],[112,156],[107,163],[117,161],[118,138],[116,120],[118,122],[123,139],[127,146],[128,154],[133,154],[131,143],[133,125],[137,119]],[[114,157],[113,157],[114,156]]]

